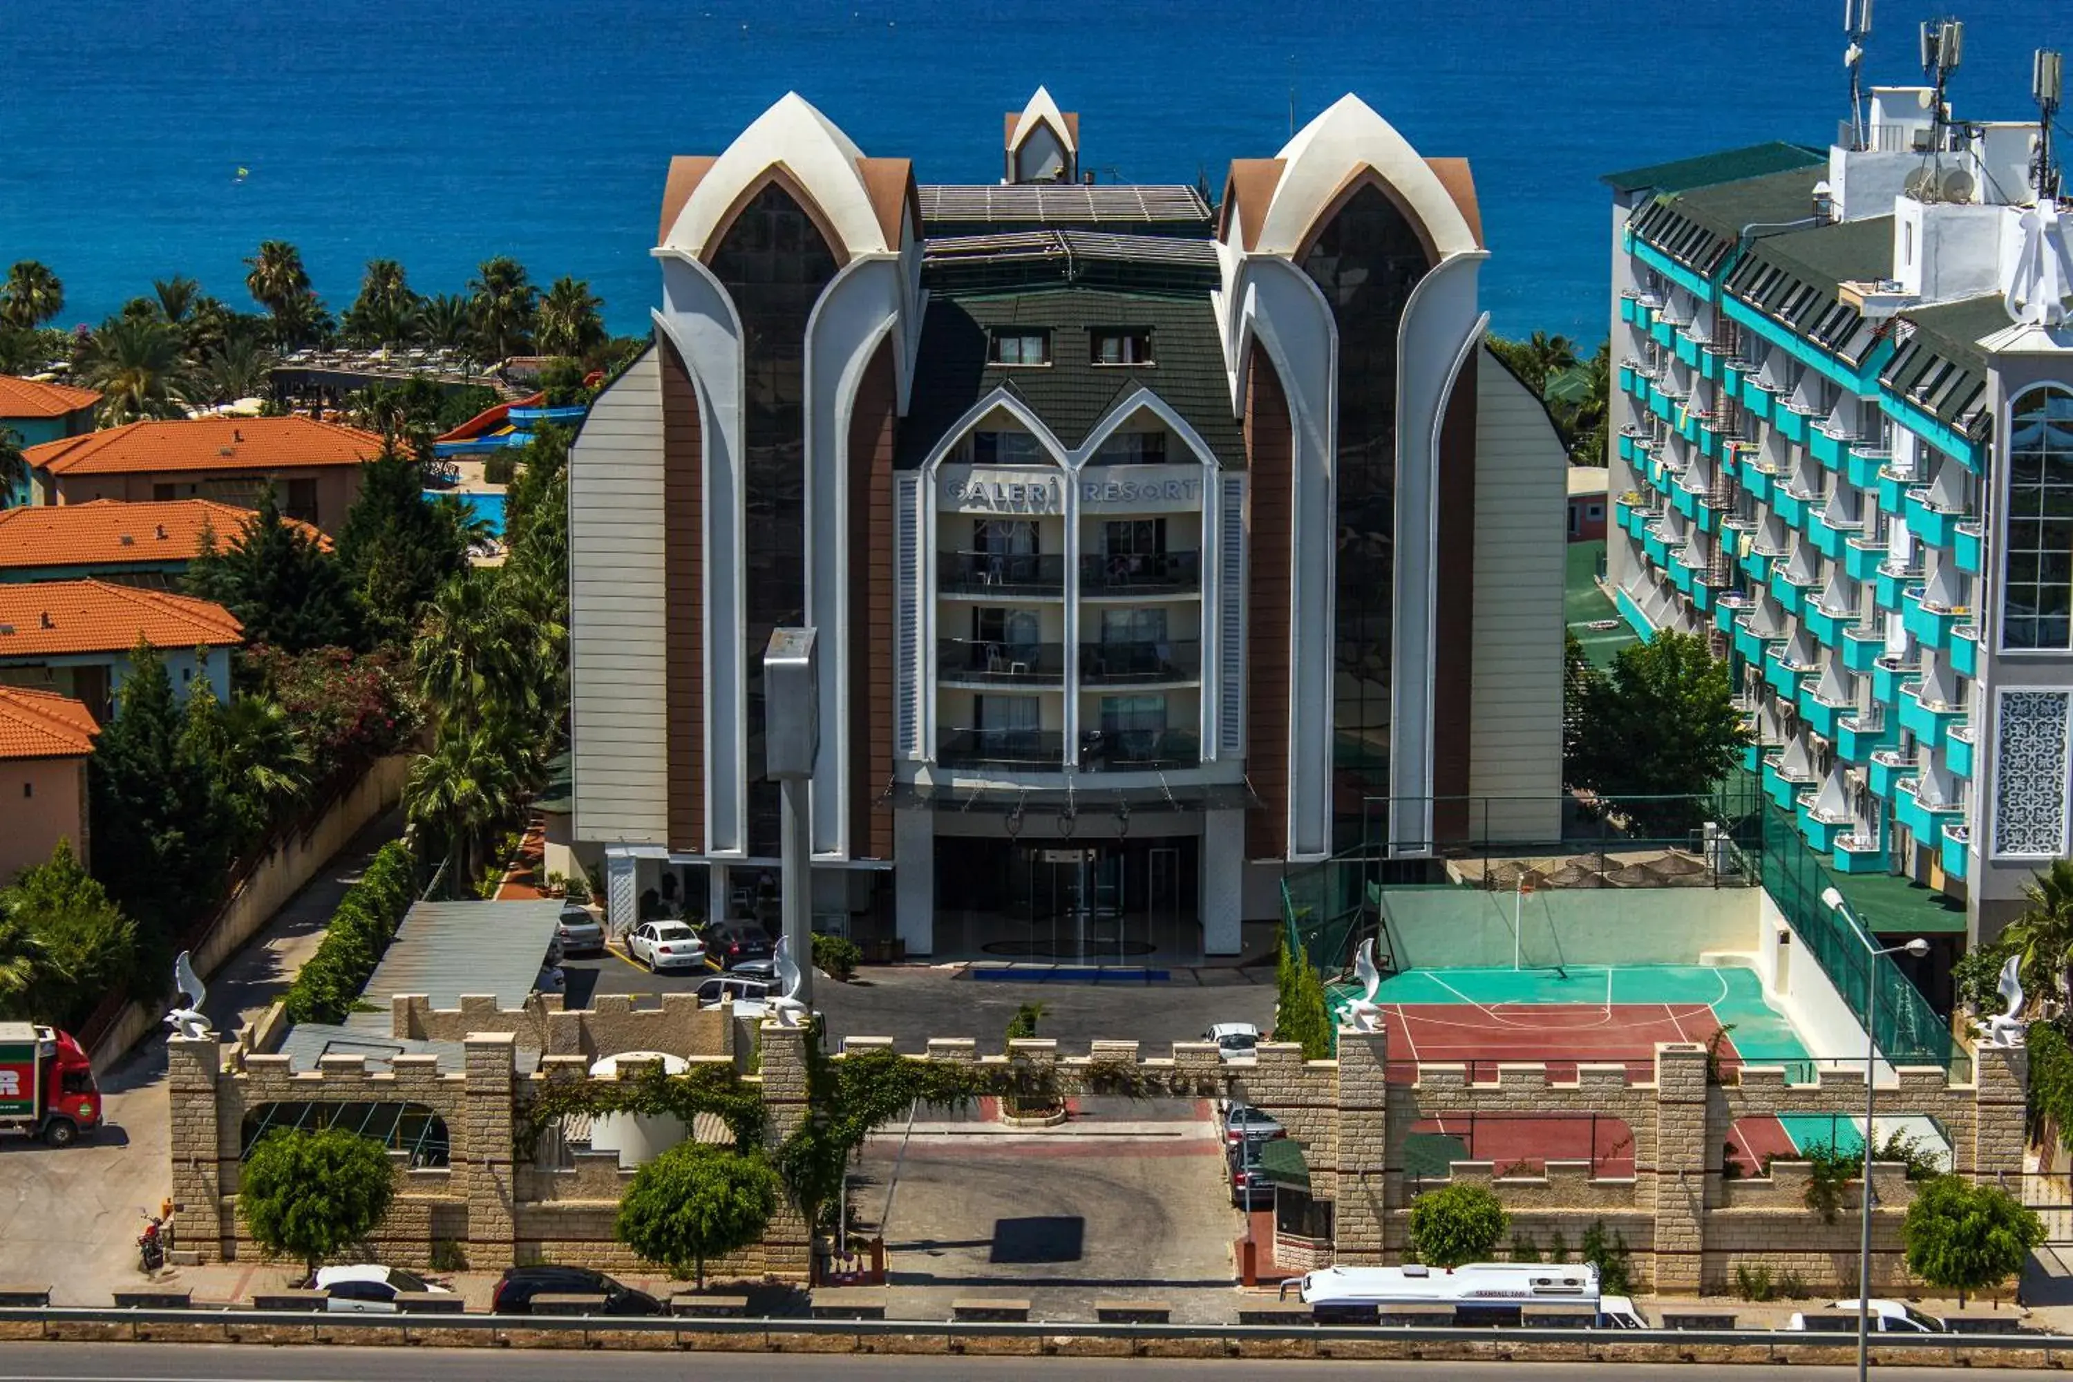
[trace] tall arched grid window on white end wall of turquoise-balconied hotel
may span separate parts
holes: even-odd
[[[2069,649],[2073,646],[2073,392],[2038,390],[2015,404],[2009,423],[2009,541],[2000,646]]]

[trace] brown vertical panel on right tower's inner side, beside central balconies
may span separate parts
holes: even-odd
[[[1281,377],[1252,350],[1246,390],[1252,472],[1246,562],[1246,858],[1287,858],[1289,818],[1289,564],[1296,532],[1296,431]]]

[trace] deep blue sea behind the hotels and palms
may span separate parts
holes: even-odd
[[[1961,4],[1961,0],[1944,0]],[[0,267],[41,259],[60,323],[191,273],[245,303],[286,238],[344,309],[369,257],[460,290],[489,255],[587,278],[643,329],[672,153],[717,153],[798,89],[925,182],[999,178],[1001,112],[1047,83],[1101,178],[1221,191],[1231,157],[1360,93],[1474,162],[1499,332],[1605,336],[1598,176],[1708,149],[1826,145],[1847,114],[1837,0],[0,0]],[[1884,0],[1868,77],[1920,81]],[[1973,0],[1959,116],[2029,112],[2067,0]],[[2065,139],[2073,153],[2073,139]],[[236,170],[249,174],[238,180]]]

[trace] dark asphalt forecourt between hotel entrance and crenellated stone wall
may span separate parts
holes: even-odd
[[[690,992],[711,970],[649,974],[620,953],[564,961],[570,1007],[595,995]],[[1155,984],[1028,984],[972,978],[964,966],[867,966],[850,984],[821,978],[815,1005],[829,1034],[891,1036],[900,1050],[922,1050],[931,1036],[972,1036],[981,1050],[999,1050],[1007,1019],[1024,1003],[1043,1003],[1039,1036],[1068,1055],[1090,1040],[1138,1040],[1146,1055],[1202,1036],[1213,1021],[1250,1021],[1267,1032],[1275,1019],[1273,966],[1171,970]]]

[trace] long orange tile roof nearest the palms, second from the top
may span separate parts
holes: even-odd
[[[83,437],[23,450],[52,474],[149,474],[158,470],[286,470],[357,466],[381,450],[381,437],[307,416],[203,416],[178,423],[124,423]]]

